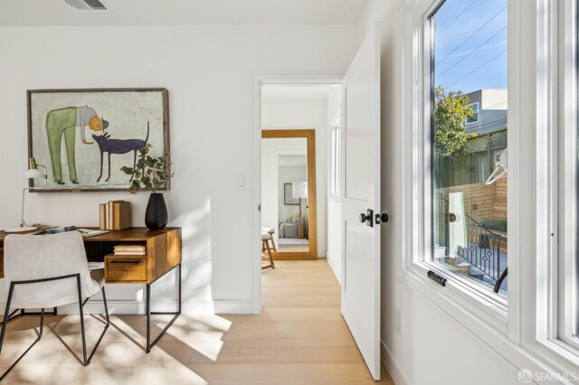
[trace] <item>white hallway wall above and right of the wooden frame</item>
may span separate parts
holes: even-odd
[[[353,57],[353,52],[352,52]],[[347,64],[346,64],[347,68]],[[327,100],[263,99],[263,129],[314,128],[316,130],[316,188],[318,209],[318,257],[327,253]]]

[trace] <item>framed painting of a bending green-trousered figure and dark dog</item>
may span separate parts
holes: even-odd
[[[147,145],[152,157],[169,153],[168,97],[166,89],[28,90],[28,156],[47,172],[46,188],[33,191],[128,191],[121,167],[134,168]]]

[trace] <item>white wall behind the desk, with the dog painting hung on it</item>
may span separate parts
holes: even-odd
[[[252,186],[252,75],[344,72],[356,51],[355,34],[351,26],[0,28],[0,228],[20,219],[26,89],[166,87],[176,177],[165,195],[169,225],[183,227],[183,310],[251,312],[257,207],[251,189],[237,190],[236,181],[246,175]],[[320,132],[318,140],[323,170],[326,136]],[[325,199],[323,181],[318,191]],[[27,219],[96,225],[98,203],[111,199],[133,202],[133,224],[144,225],[147,193],[34,193]],[[318,218],[325,219],[322,203]],[[319,239],[326,249],[325,234]],[[156,284],[154,299],[174,298],[173,279]],[[116,311],[136,309],[142,286],[109,285],[108,293]]]

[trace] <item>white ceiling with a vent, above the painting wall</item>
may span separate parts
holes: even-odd
[[[345,25],[366,0],[101,0],[77,11],[64,0],[0,0],[0,26]]]

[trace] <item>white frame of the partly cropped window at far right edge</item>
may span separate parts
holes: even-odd
[[[577,129],[577,2],[562,3],[537,0],[537,84],[536,89],[536,252],[532,281],[523,282],[530,291],[522,313],[535,315],[534,323],[521,324],[522,345],[561,371],[579,377],[579,343],[566,338],[561,329],[574,317],[566,317],[569,309],[568,280],[563,274],[569,262],[576,263],[574,237],[566,237],[565,229],[576,218]],[[571,50],[565,50],[571,47]],[[572,173],[572,178],[565,178]],[[576,223],[576,222],[575,222]],[[576,289],[575,289],[576,290]],[[576,294],[575,294],[576,295]],[[521,302],[525,302],[522,298]],[[576,302],[575,302],[576,304]]]

